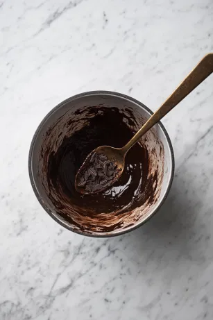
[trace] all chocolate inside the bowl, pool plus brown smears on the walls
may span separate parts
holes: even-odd
[[[111,187],[97,194],[77,192],[76,173],[87,155],[101,145],[120,148],[135,134],[129,126],[134,118],[128,117],[127,121],[118,108],[89,108],[94,117],[88,118],[87,125],[65,136],[57,151],[50,153],[46,148],[48,156],[43,151],[44,171],[47,169],[49,198],[63,219],[78,230],[110,232],[135,224],[142,213],[136,210],[134,221],[133,210],[139,207],[148,210],[148,205],[157,201],[162,176],[159,181],[157,162],[151,168],[146,145],[137,143],[126,155],[123,174]]]

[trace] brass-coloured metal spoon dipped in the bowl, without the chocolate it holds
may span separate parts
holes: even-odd
[[[113,148],[112,146],[99,146],[94,149],[92,153],[87,155],[85,162],[80,167],[76,174],[75,187],[76,190],[83,194],[94,194],[96,192],[101,192],[112,185],[116,180],[119,179],[123,172],[124,160],[126,153],[130,148],[143,136],[145,133],[151,129],[155,124],[157,124],[160,119],[162,119],[169,111],[171,111],[182,99],[184,99],[191,91],[193,91],[200,83],[202,83],[207,76],[210,76],[213,72],[213,53],[208,53],[196,67],[189,73],[189,75],[180,83],[176,90],[167,98],[160,108],[155,111],[155,113],[146,121],[144,126],[133,136],[133,138],[121,149]],[[82,180],[83,172],[88,169],[90,165],[90,160],[94,153],[98,155],[105,155],[109,161],[112,161],[114,165],[117,166],[116,174],[107,184],[103,183],[98,190],[86,190],[85,181]],[[81,181],[81,183],[80,183]],[[83,181],[83,183],[82,183]],[[83,185],[82,185],[83,184]]]

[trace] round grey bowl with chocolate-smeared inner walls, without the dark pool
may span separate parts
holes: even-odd
[[[76,203],[72,193],[67,193],[66,187],[59,184],[56,188],[54,183],[58,181],[58,169],[55,162],[58,150],[69,137],[88,126],[94,117],[104,116],[103,110],[118,112],[121,115],[121,121],[133,134],[152,114],[143,103],[124,94],[107,91],[77,94],[58,104],[44,117],[31,142],[28,158],[31,185],[44,210],[61,226],[75,233],[92,237],[121,235],[148,221],[166,199],[174,172],[171,141],[164,126],[159,122],[139,142],[147,153],[144,192],[136,188],[133,197],[125,203],[125,199],[130,196],[127,194],[121,208],[115,205],[119,203],[120,194],[125,188],[122,191],[119,190],[120,193],[116,198],[118,188],[114,187],[111,192],[112,196],[115,195],[114,207],[110,208],[109,205],[106,210],[102,210],[101,195],[96,198],[96,208],[92,208],[84,198]],[[113,131],[115,129],[112,123],[112,134],[115,134]],[[118,131],[117,135],[122,135],[122,132]],[[88,137],[88,143],[89,140],[90,137]],[[83,144],[81,141],[78,143],[79,146]],[[70,159],[70,170],[75,174],[76,169],[71,166],[71,161]],[[81,163],[78,167],[80,165]],[[53,167],[54,170],[51,169]],[[69,163],[67,172],[69,173]],[[145,181],[144,176],[137,178],[139,183]],[[128,183],[134,183],[134,181]]]

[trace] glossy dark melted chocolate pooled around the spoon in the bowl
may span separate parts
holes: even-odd
[[[80,194],[76,191],[76,172],[92,150],[101,145],[120,148],[134,135],[117,108],[96,108],[95,113],[86,126],[71,137],[65,137],[58,150],[49,155],[49,190],[54,188],[54,192],[59,195],[58,203],[56,197],[51,200],[58,208],[58,214],[72,223],[72,214],[63,208],[63,198],[69,201],[74,210],[92,218],[101,213],[123,214],[146,201],[152,203],[157,187],[157,171],[154,175],[148,174],[146,146],[137,143],[128,151],[123,174],[112,187],[99,194]],[[102,230],[109,231],[118,227],[114,224],[111,227],[105,226]]]

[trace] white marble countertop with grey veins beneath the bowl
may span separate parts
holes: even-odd
[[[110,239],[38,203],[28,149],[44,115],[88,90],[152,110],[213,51],[212,0],[0,1],[0,319],[213,319],[213,75],[163,123],[176,175],[160,212]]]

